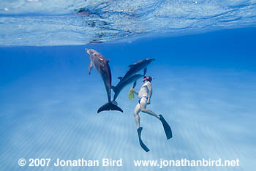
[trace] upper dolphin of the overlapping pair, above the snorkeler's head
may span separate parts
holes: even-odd
[[[137,72],[139,72],[141,69],[144,69],[144,74],[146,75],[146,66],[148,66],[151,61],[154,61],[154,58],[146,58],[140,61],[135,62],[135,64],[129,65],[129,70],[127,73],[125,73],[124,77],[118,77],[120,79],[118,84],[124,83],[124,81],[128,80],[129,77],[132,75],[135,75]],[[118,84],[116,86],[118,86]]]

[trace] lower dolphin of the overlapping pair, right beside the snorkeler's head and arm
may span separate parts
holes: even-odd
[[[128,86],[130,83],[133,83],[133,87],[132,88],[135,88],[137,80],[140,79],[140,77],[143,77],[143,76],[144,75],[132,75],[132,77],[129,77],[128,80],[125,80],[123,83],[118,84],[117,86],[111,86],[111,88],[115,92],[113,101],[116,101],[116,98],[117,98],[118,94],[120,94],[121,90],[125,86]]]

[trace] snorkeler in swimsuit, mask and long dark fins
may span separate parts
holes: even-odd
[[[150,99],[151,99],[151,95],[152,95],[151,81],[152,81],[152,77],[144,76],[143,77],[143,82],[144,83],[143,83],[143,86],[141,86],[140,91],[136,92],[135,90],[132,89],[132,91],[135,94],[138,94],[138,97],[139,97],[139,102],[135,107],[134,116],[135,116],[135,121],[136,121],[136,125],[137,125],[137,131],[138,131],[140,146],[146,152],[148,152],[149,149],[146,147],[146,145],[143,143],[143,141],[140,138],[140,134],[141,134],[141,131],[142,131],[142,127],[140,127],[140,116],[138,115],[140,113],[140,111],[143,112],[143,113],[148,113],[149,115],[153,115],[154,117],[158,118],[162,122],[162,126],[165,129],[165,135],[167,137],[167,140],[169,140],[171,137],[173,137],[170,126],[167,123],[167,121],[165,121],[165,118],[163,118],[162,115],[157,115],[157,113],[154,113],[153,111],[146,109],[146,105],[150,104]]]

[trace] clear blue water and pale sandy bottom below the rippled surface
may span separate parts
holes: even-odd
[[[0,48],[0,170],[254,170],[255,28],[129,43]],[[156,118],[140,113],[140,148],[128,86],[116,111],[97,114],[105,87],[88,74],[85,47],[110,58],[113,85],[128,65],[156,58],[148,108],[173,129],[166,140]],[[142,85],[138,81],[137,91]],[[18,159],[123,159],[122,167],[25,167]],[[135,167],[134,159],[239,159],[239,167]]]

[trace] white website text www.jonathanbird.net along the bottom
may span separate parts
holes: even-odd
[[[135,167],[239,167],[239,159],[134,160]]]

